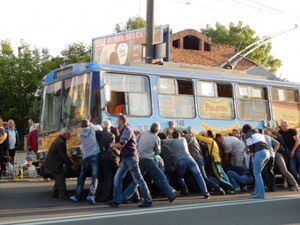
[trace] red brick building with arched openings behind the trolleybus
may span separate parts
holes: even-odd
[[[186,29],[170,37],[170,60],[176,63],[218,67],[235,54],[232,45],[212,43],[199,31]],[[240,60],[235,70],[247,70],[257,65],[248,59]]]

